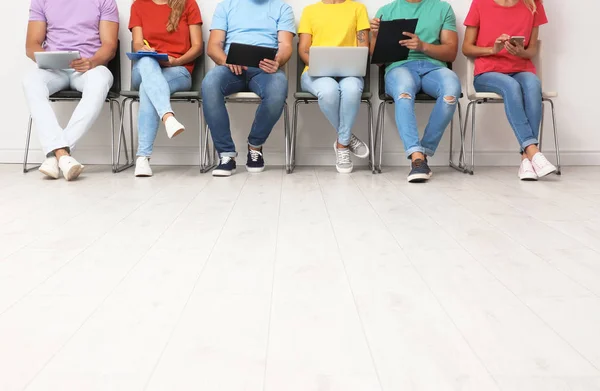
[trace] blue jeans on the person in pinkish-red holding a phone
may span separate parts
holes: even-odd
[[[477,92],[494,92],[504,99],[504,110],[521,152],[538,144],[542,121],[542,84],[531,72],[482,73],[473,83]]]

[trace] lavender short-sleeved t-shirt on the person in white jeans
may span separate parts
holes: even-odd
[[[46,22],[48,51],[79,50],[92,57],[100,49],[100,21],[119,23],[115,0],[31,0],[30,22]]]

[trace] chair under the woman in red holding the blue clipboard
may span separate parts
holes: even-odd
[[[132,44],[133,46],[133,44]],[[205,47],[205,46],[203,46]],[[215,167],[215,154],[210,156],[209,153],[209,140],[207,131],[203,131],[203,116],[202,116],[202,80],[204,79],[205,66],[204,66],[204,51],[195,62],[194,71],[192,72],[192,87],[190,91],[175,92],[171,95],[172,102],[189,102],[195,103],[198,110],[198,133],[199,133],[199,154],[200,154],[200,172],[205,173],[211,168]],[[133,61],[131,62],[131,70],[133,71]],[[131,88],[129,90],[121,91],[121,95],[125,97],[123,99],[123,115],[121,116],[121,129],[124,128],[124,114],[127,104],[129,104],[129,133],[131,138],[131,162],[127,162],[127,165],[123,167],[125,170],[132,167],[135,164],[135,151],[133,146],[133,104],[140,101],[140,94],[138,90]],[[125,134],[124,132],[122,133]],[[127,145],[125,144],[125,149]],[[121,150],[121,140],[119,139],[118,150]],[[121,170],[121,171],[122,171]]]

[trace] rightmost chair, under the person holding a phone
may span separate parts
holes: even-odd
[[[542,41],[538,41],[538,54],[533,59],[533,63],[537,69],[537,75],[542,79],[542,62],[541,62],[541,52],[542,52]],[[473,175],[475,173],[475,114],[477,105],[484,103],[504,103],[502,97],[498,94],[491,92],[477,92],[475,91],[475,87],[473,86],[473,81],[475,79],[475,61],[473,58],[468,58],[467,63],[467,97],[469,98],[469,105],[467,106],[467,113],[465,116],[465,125],[464,130],[465,134],[467,131],[467,123],[469,121],[469,115],[471,117],[471,168],[468,170],[469,174]],[[554,144],[556,146],[556,175],[561,175],[560,168],[560,147],[558,144],[558,130],[556,127],[556,114],[554,111],[554,102],[552,98],[558,97],[558,93],[554,91],[544,91],[543,83],[542,83],[542,123],[540,124],[540,135],[539,135],[539,149],[542,150],[542,135],[544,131],[544,102],[549,102],[550,107],[552,108],[552,126],[554,128]],[[470,114],[469,114],[470,113]]]

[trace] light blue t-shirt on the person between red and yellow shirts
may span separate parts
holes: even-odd
[[[232,42],[277,48],[279,31],[296,34],[292,7],[281,0],[223,0],[210,29],[225,31],[225,53]]]

